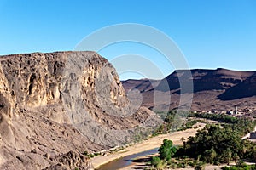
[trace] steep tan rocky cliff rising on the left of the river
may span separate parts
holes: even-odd
[[[69,168],[63,156],[78,156],[72,166],[89,169],[84,150],[130,142],[134,127],[157,123],[126,98],[113,66],[94,52],[0,58],[0,169]]]

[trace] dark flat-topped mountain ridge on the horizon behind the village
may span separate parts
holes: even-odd
[[[181,94],[193,94],[193,111],[256,107],[256,71],[177,70],[162,80],[127,80],[122,83],[127,92],[139,90],[143,105],[155,110],[177,108]],[[191,84],[193,87],[189,88]]]

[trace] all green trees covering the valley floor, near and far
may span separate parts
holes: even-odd
[[[151,161],[154,168],[191,166],[195,169],[204,169],[206,163],[215,165],[227,163],[229,165],[230,161],[235,161],[236,166],[224,167],[224,169],[256,169],[255,166],[241,163],[241,160],[256,162],[256,144],[248,140],[241,140],[242,136],[253,131],[256,126],[255,121],[224,114],[192,112],[186,114],[184,112],[176,116],[176,111],[158,114],[162,117],[165,116],[165,123],[155,134],[168,133],[176,127],[179,127],[176,130],[185,130],[193,127],[196,122],[204,122],[205,119],[216,122],[198,131],[195,137],[189,137],[187,141],[182,139],[183,146],[175,151],[171,151],[172,141],[164,140],[160,146],[160,156],[154,157]],[[189,119],[185,120],[186,116]],[[173,126],[177,122],[183,122],[183,124]]]

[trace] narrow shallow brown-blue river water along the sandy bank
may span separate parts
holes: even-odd
[[[134,159],[136,159],[137,157],[142,157],[142,156],[148,156],[148,155],[152,155],[152,154],[156,154],[158,153],[158,148],[155,148],[153,150],[146,150],[131,156],[125,156],[122,158],[119,158],[117,160],[114,161],[110,161],[104,165],[102,165],[101,167],[97,168],[97,170],[115,170],[115,169],[121,169],[123,167],[127,167],[129,165],[131,165],[132,161]]]

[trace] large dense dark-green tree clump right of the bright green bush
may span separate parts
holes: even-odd
[[[256,144],[241,140],[240,132],[231,127],[207,125],[195,137],[189,137],[177,156],[189,156],[198,161],[219,164],[239,159],[256,160]]]

